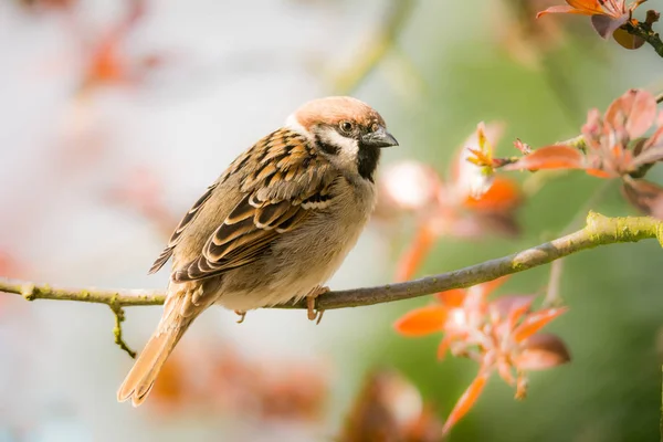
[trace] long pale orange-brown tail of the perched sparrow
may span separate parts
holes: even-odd
[[[161,367],[164,367],[164,364],[189,327],[189,324],[190,322],[187,322],[177,327],[155,332],[119,387],[117,391],[117,400],[119,402],[131,399],[134,407],[138,407],[145,401]]]

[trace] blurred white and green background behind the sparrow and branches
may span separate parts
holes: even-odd
[[[449,183],[481,120],[499,125],[497,155],[512,156],[516,137],[535,147],[566,139],[589,108],[603,110],[627,88],[663,88],[648,46],[602,41],[583,17],[534,20],[555,3],[562,1],[3,1],[0,275],[165,287],[168,272],[146,273],[180,215],[236,155],[314,97],[349,94],[376,107],[400,141],[385,155],[381,182],[417,199],[428,181],[390,166],[419,161],[432,181]],[[589,208],[633,213],[617,185],[581,173],[508,179],[517,203],[440,221],[409,273],[535,245],[581,227]],[[394,281],[403,253],[417,248],[418,219],[383,200],[330,286]],[[654,241],[567,259],[559,293],[570,312],[548,328],[571,364],[533,373],[524,401],[493,378],[450,439],[657,438],[662,265]],[[549,267],[538,267],[499,293],[543,293],[548,281]],[[250,312],[241,325],[232,312],[209,311],[146,406],[133,409],[115,401],[131,359],[113,343],[106,306],[2,295],[0,441],[361,440],[347,435],[348,422],[361,401],[378,401],[366,383],[376,379],[387,379],[390,424],[430,430],[383,440],[440,440],[440,422],[477,367],[439,364],[440,336],[393,332],[398,317],[429,302],[327,312],[319,326],[302,311]],[[139,350],[159,316],[158,307],[127,308],[127,344]],[[391,371],[371,378],[378,369]]]

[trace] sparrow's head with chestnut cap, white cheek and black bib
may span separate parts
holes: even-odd
[[[332,164],[369,181],[373,181],[380,149],[398,146],[380,114],[351,97],[308,102],[292,114],[286,124],[307,136]]]

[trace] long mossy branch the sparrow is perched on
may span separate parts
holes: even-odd
[[[663,244],[663,221],[650,217],[607,218],[590,212],[583,229],[535,248],[453,272],[404,283],[328,292],[316,299],[316,307],[318,309],[359,307],[409,299],[452,288],[470,287],[548,264],[582,250],[646,239],[657,239]],[[28,301],[59,299],[106,304],[113,312],[117,312],[122,307],[159,305],[165,299],[165,293],[160,291],[53,288],[46,284],[38,285],[2,277],[0,277],[0,292],[21,295]],[[306,302],[278,305],[274,308],[306,308]],[[118,324],[116,323],[116,325]]]

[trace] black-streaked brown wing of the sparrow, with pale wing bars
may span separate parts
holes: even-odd
[[[337,175],[308,141],[288,129],[259,141],[244,165],[259,165],[241,180],[244,199],[207,241],[201,255],[172,281],[201,280],[254,262],[282,233],[332,199]]]

